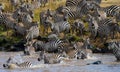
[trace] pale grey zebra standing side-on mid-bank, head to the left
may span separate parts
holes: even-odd
[[[68,21],[61,21],[57,23],[53,23],[50,20],[46,20],[46,23],[51,25],[52,33],[59,35],[61,32],[69,33],[70,32],[70,24]]]

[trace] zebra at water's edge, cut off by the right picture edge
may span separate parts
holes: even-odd
[[[115,55],[117,61],[120,61],[120,42],[119,41],[113,41],[109,42],[108,49],[112,50],[112,53]]]

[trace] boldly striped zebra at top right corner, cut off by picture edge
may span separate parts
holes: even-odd
[[[106,12],[108,17],[114,17],[116,13],[120,12],[120,6],[118,5],[111,5],[102,9]]]

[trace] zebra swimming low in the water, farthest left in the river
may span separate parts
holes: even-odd
[[[26,62],[14,62],[12,57],[9,57],[9,59],[7,60],[6,64],[3,64],[3,67],[6,69],[14,69],[14,68],[30,68],[32,67],[33,64],[29,61]]]

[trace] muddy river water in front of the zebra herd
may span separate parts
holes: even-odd
[[[37,55],[24,57],[25,60],[31,61],[36,66],[28,69],[4,69],[2,64],[5,63],[9,56],[21,54],[21,52],[0,52],[0,72],[120,72],[120,62],[116,62],[112,54],[94,54],[92,58],[86,60],[64,60],[60,64],[43,64],[37,62]],[[101,60],[100,65],[86,65],[97,60]]]

